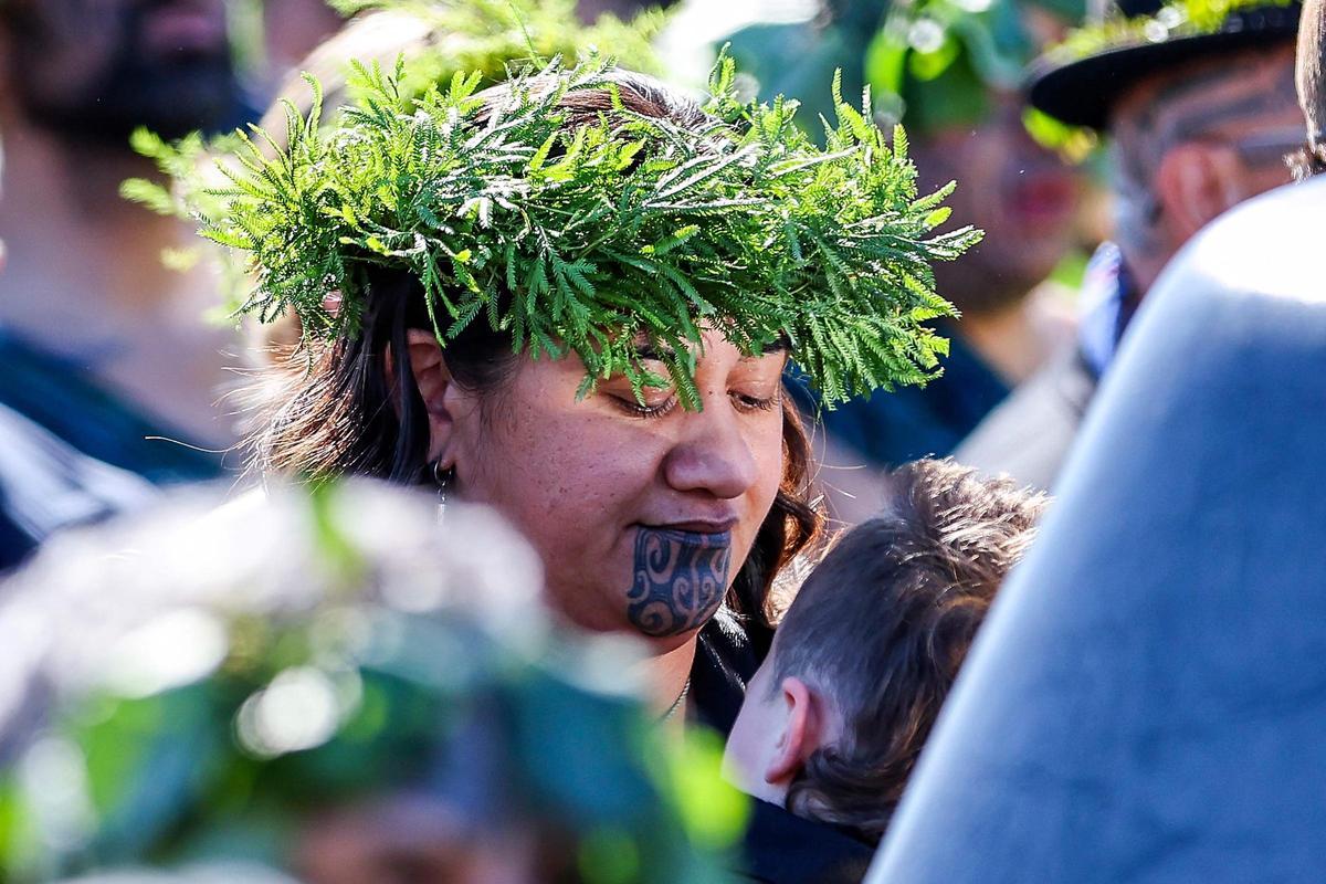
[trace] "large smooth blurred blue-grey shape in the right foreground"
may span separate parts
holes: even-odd
[[[869,881],[1322,880],[1323,211],[1253,200],[1158,282]]]

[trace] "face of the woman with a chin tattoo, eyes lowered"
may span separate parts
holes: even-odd
[[[455,469],[459,497],[492,505],[533,542],[573,622],[676,647],[717,610],[773,505],[785,362],[708,333],[704,407],[687,411],[671,388],[636,403],[626,378],[577,400],[577,357],[525,358],[493,391],[448,384],[440,415],[430,402],[434,453]]]

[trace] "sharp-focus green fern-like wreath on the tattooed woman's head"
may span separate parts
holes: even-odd
[[[186,172],[203,233],[253,272],[243,311],[293,309],[306,335],[353,335],[370,269],[395,268],[418,280],[444,347],[487,322],[536,357],[577,354],[585,390],[617,372],[636,392],[666,383],[642,364],[648,347],[697,407],[701,326],[748,354],[789,342],[830,403],[934,375],[947,345],[923,323],[952,307],[931,262],[979,232],[935,233],[952,186],[918,197],[906,137],[887,143],[869,99],[855,110],[835,90],[818,147],[796,102],[739,101],[729,60],[696,126],[626,110],[640,78],[601,61],[554,61],[487,95],[456,74],[410,97],[403,62],[358,77],[330,126],[318,102],[292,110],[274,156],[244,139],[228,187],[156,151]],[[570,125],[564,99],[594,89],[614,107]]]

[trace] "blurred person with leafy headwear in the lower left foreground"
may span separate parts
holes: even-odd
[[[556,628],[497,517],[217,504],[69,531],[0,594],[0,879],[727,880],[717,744],[647,726],[640,648]]]

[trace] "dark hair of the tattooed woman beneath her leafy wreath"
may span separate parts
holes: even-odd
[[[569,93],[561,102],[568,126],[613,114],[615,101],[631,114],[666,118],[682,126],[708,126],[700,107],[639,74],[613,74],[609,89]],[[503,86],[481,93],[491,111],[507,101]],[[484,114],[480,114],[480,119]],[[432,329],[422,284],[403,270],[373,268],[365,276],[365,310],[358,334],[269,370],[253,433],[255,467],[310,478],[343,473],[395,482],[431,481],[428,419],[410,366],[407,333]],[[390,358],[390,366],[389,366]],[[512,337],[487,322],[471,322],[448,339],[443,359],[461,387],[499,394],[514,368]],[[784,474],[773,508],[737,574],[728,604],[757,627],[766,643],[772,631],[774,577],[814,541],[822,516],[812,492],[810,443],[790,395],[784,396]]]

